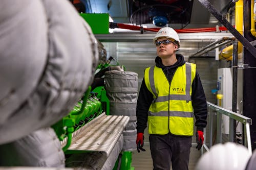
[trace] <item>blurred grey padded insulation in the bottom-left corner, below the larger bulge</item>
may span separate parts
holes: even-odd
[[[65,167],[64,152],[50,127],[1,144],[0,153],[0,166]]]

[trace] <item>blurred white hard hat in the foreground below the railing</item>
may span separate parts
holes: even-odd
[[[196,170],[240,170],[245,169],[251,154],[241,144],[227,142],[212,146],[209,152],[202,155]]]

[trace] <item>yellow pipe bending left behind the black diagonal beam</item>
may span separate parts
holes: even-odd
[[[239,0],[236,2],[236,14],[235,14],[235,22],[236,22],[236,29],[240,34],[243,35],[243,0]],[[243,51],[243,45],[241,42],[238,42],[238,54],[242,53]],[[220,55],[219,59],[225,59],[225,60],[232,60],[232,54],[233,54],[233,45],[229,45],[226,48],[224,48]],[[241,55],[239,55],[241,56]]]

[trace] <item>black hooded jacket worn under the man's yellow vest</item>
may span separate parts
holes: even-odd
[[[176,58],[177,58],[177,62],[171,66],[164,66],[162,64],[162,60],[160,57],[156,57],[155,59],[156,66],[163,69],[169,82],[172,80],[176,69],[179,66],[182,66],[183,64],[185,64],[184,57],[182,55],[176,54]],[[206,105],[206,98],[205,98],[203,86],[197,71],[196,71],[195,79],[192,83],[191,100],[192,100],[192,106],[194,109],[194,115],[196,118],[195,125],[197,127],[197,130],[203,131],[203,128],[206,127],[206,124],[207,124],[206,122],[207,105]],[[148,112],[148,109],[150,108],[152,101],[153,101],[153,94],[147,89],[144,78],[143,78],[140,91],[139,91],[137,109],[136,109],[137,133],[139,132],[144,133],[144,130],[147,126],[147,112]]]

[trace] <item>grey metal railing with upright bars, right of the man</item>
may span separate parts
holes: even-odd
[[[226,115],[229,117],[229,141],[233,142],[233,125],[234,120],[237,120],[238,122],[241,122],[244,128],[244,145],[248,148],[248,151],[250,154],[252,154],[251,150],[251,137],[250,137],[250,125],[252,124],[251,118],[248,118],[246,116],[243,116],[241,114],[238,114],[236,112],[232,112],[230,110],[224,109],[220,106],[217,106],[215,104],[212,104],[210,102],[207,102],[207,108],[208,108],[208,117],[209,117],[209,148],[212,146],[212,120],[214,113],[217,113],[217,134],[216,134],[216,142],[221,143],[222,142],[222,115]],[[204,136],[206,138],[206,129],[204,129]],[[206,151],[209,151],[209,148],[207,147],[206,140],[204,140],[203,148]],[[203,150],[201,150],[201,153],[203,154]]]

